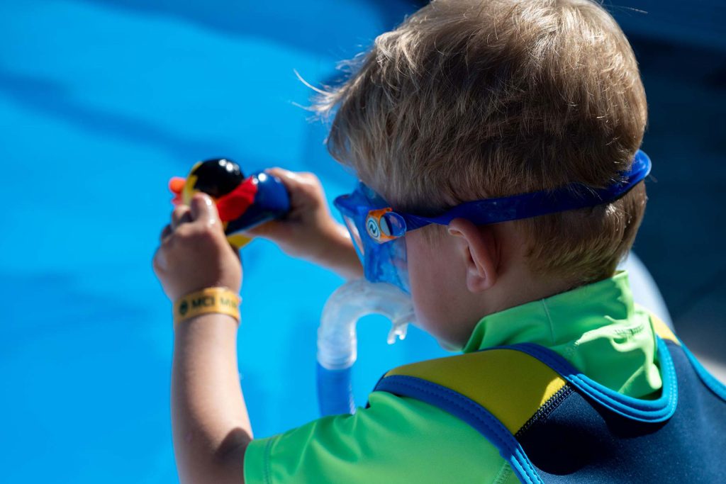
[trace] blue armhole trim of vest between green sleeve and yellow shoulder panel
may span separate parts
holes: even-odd
[[[499,454],[510,463],[521,482],[542,483],[539,473],[532,466],[514,435],[502,422],[499,422],[497,417],[470,398],[436,383],[405,375],[383,378],[375,390],[416,398],[462,419],[499,449]]]

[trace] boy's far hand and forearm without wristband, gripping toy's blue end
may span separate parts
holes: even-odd
[[[346,278],[363,275],[363,268],[345,227],[330,216],[319,179],[312,173],[271,168],[290,194],[290,212],[249,231],[277,243],[288,255],[332,269]]]

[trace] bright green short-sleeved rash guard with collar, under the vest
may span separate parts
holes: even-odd
[[[486,316],[464,353],[537,343],[593,380],[636,398],[661,388],[648,313],[627,273]],[[245,483],[517,483],[499,451],[457,417],[373,392],[354,415],[325,417],[253,440]]]

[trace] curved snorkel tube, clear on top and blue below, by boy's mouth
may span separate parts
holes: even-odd
[[[338,287],[325,303],[317,340],[320,414],[353,414],[356,409],[351,373],[357,357],[356,324],[380,314],[391,320],[388,344],[406,337],[414,320],[411,298],[393,284],[356,279]]]

